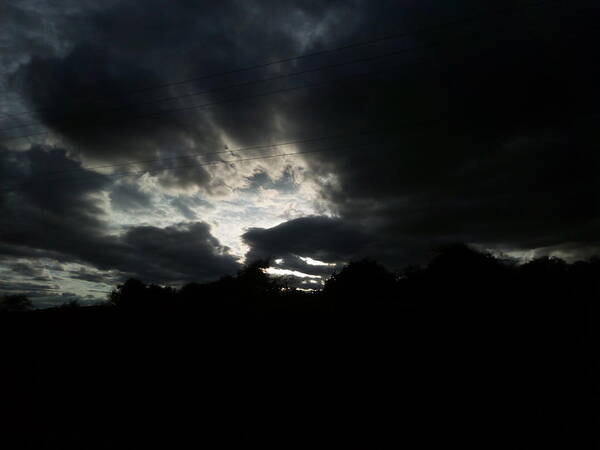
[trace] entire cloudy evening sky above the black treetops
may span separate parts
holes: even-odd
[[[600,253],[593,1],[0,6],[0,294]]]

